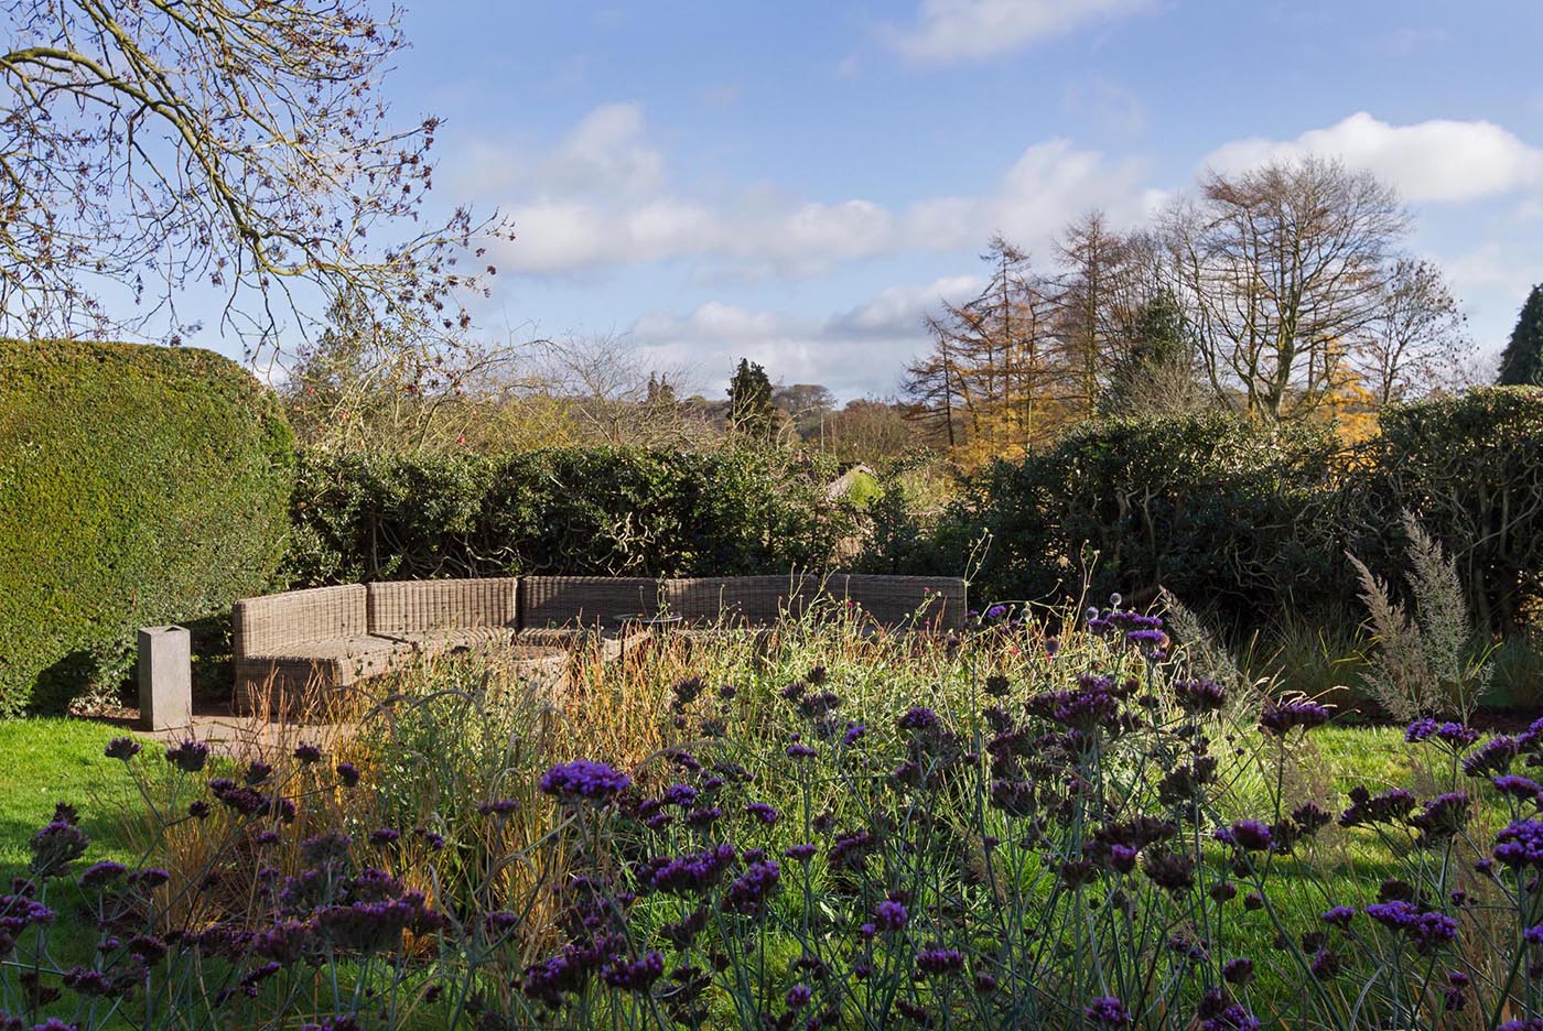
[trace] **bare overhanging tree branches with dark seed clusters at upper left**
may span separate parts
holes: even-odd
[[[401,49],[369,0],[9,0],[0,302],[28,334],[188,328],[224,297],[255,356],[349,293],[424,333],[468,322],[457,256],[498,222],[417,219],[437,122],[376,94]],[[397,227],[403,239],[386,240]],[[128,314],[125,314],[125,308]]]

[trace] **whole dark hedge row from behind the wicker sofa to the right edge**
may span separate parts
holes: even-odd
[[[966,572],[977,598],[1167,587],[1234,629],[1359,620],[1353,552],[1400,579],[1409,509],[1457,556],[1475,610],[1543,603],[1543,390],[1396,407],[1345,447],[1327,427],[1225,415],[1109,421],[961,485],[934,526],[892,493],[833,501],[785,455],[551,450],[304,455],[285,566],[299,584],[500,573],[742,575],[833,564]],[[895,504],[890,504],[895,502]],[[850,552],[869,532],[867,550]]]

